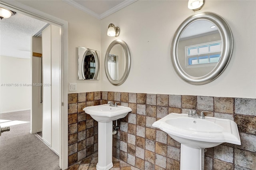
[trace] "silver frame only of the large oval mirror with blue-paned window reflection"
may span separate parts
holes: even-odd
[[[222,52],[220,55],[220,60],[218,61],[214,69],[212,69],[212,71],[201,77],[193,77],[191,75],[188,75],[188,73],[186,73],[181,68],[180,63],[178,61],[178,41],[180,39],[180,36],[182,35],[184,29],[186,29],[186,27],[188,27],[189,24],[196,20],[207,20],[215,24],[215,26],[218,28],[220,32],[220,36],[222,39]],[[222,73],[222,71],[228,64],[228,61],[230,60],[232,50],[233,38],[227,22],[218,14],[212,12],[200,12],[184,20],[184,22],[182,22],[182,24],[180,24],[180,26],[176,30],[171,46],[172,65],[178,76],[187,83],[193,85],[203,85],[209,83],[210,81],[213,81]]]

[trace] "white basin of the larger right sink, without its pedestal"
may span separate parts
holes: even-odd
[[[152,126],[191,148],[210,148],[223,142],[241,145],[237,125],[229,119],[198,119],[187,114],[171,113]]]

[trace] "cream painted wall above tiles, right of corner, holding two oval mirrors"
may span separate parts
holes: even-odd
[[[198,11],[222,16],[234,38],[228,66],[206,85],[184,82],[170,59],[176,29],[196,13],[187,8],[187,3],[187,0],[139,0],[101,20],[102,91],[256,98],[256,1],[207,0]],[[110,23],[120,28],[119,37],[106,35]],[[130,74],[120,86],[110,84],[104,73],[105,51],[115,39],[124,40],[131,52]]]

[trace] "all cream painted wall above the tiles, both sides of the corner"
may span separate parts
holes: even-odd
[[[174,32],[183,20],[196,13],[187,8],[187,0],[139,0],[101,21],[62,1],[18,2],[69,22],[67,76],[70,83],[78,83],[78,90],[69,93],[120,91],[256,98],[256,1],[207,0],[198,11],[222,16],[234,38],[228,66],[206,85],[184,82],[175,73],[170,59]],[[106,35],[110,23],[120,27],[119,37]],[[106,49],[115,39],[128,44],[132,57],[130,74],[121,86],[110,84],[104,72]],[[77,79],[78,46],[100,51],[99,81]]]

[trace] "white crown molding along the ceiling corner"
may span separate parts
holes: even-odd
[[[109,16],[110,14],[113,14],[115,12],[117,12],[118,10],[121,10],[122,8],[136,2],[137,0],[125,0],[124,2],[118,4],[117,6],[111,8],[110,10],[102,13],[102,14],[97,14],[96,12],[93,12],[92,10],[74,2],[73,0],[62,0],[63,2],[66,2],[67,4],[70,4],[71,6],[79,9],[79,10],[82,10],[83,12],[86,12],[87,14],[89,14],[90,16],[94,16],[95,18],[98,18],[98,19],[103,19],[107,16]]]

